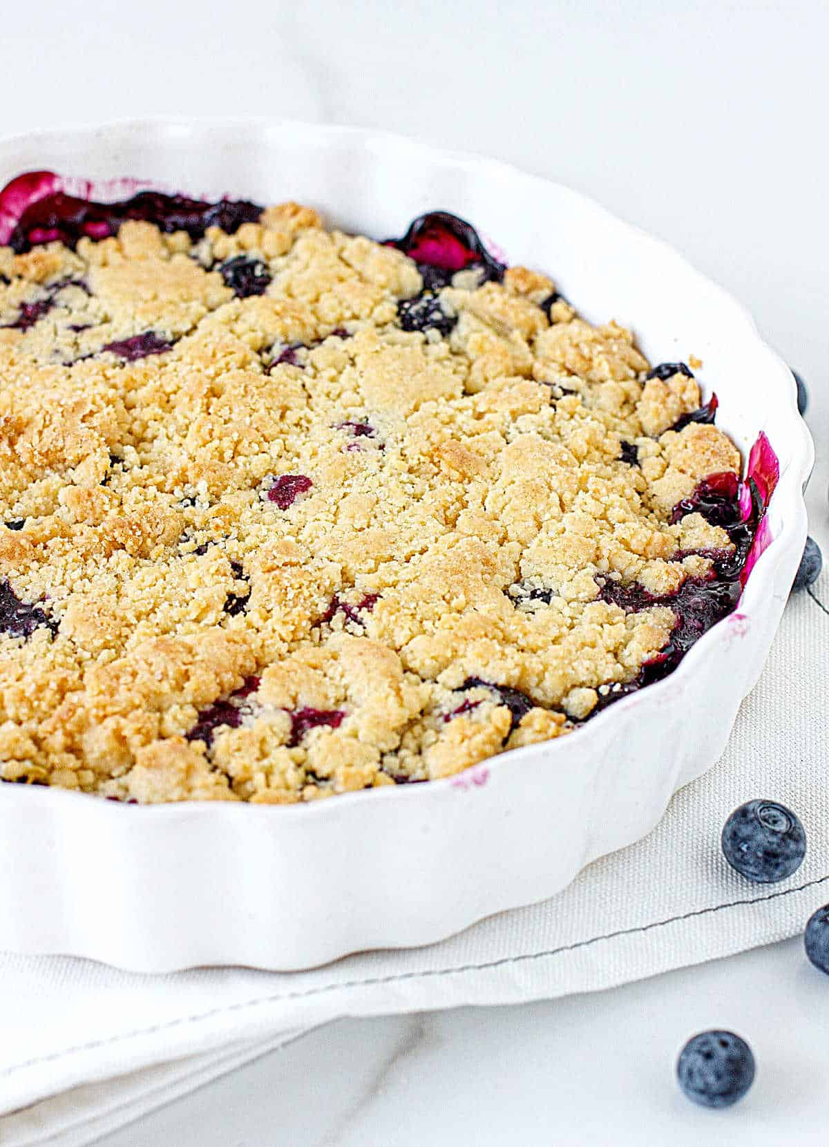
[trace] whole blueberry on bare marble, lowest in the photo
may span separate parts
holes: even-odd
[[[677,1078],[701,1107],[730,1107],[754,1080],[754,1056],[733,1031],[701,1031],[680,1052]]]

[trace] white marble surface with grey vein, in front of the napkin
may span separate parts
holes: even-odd
[[[816,1147],[828,1012],[829,982],[789,941],[594,996],[341,1021],[104,1144]],[[758,1063],[729,1111],[695,1108],[673,1079],[687,1036],[714,1024]]]

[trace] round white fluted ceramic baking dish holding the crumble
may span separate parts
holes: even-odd
[[[23,171],[136,177],[190,194],[295,198],[350,231],[401,234],[443,208],[539,267],[655,362],[696,354],[718,424],[780,459],[773,541],[738,611],[665,680],[584,728],[449,780],[311,805],[120,805],[0,785],[0,947],[141,972],[296,969],[428,944],[552,896],[647,834],[718,758],[762,669],[806,537],[812,442],[792,377],[749,314],[664,243],[556,184],[377,132],[273,120],[131,122],[0,141]]]

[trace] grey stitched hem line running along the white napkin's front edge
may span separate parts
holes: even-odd
[[[25,1060],[23,1063],[16,1063],[13,1067],[5,1068],[0,1071],[0,1078],[7,1078],[16,1071],[23,1071],[26,1068],[33,1068],[41,1063],[53,1063],[67,1055],[76,1055],[79,1052],[91,1052],[97,1047],[112,1046],[127,1039],[134,1039],[138,1036],[151,1036],[159,1031],[170,1031],[172,1028],[179,1028],[183,1024],[196,1023],[201,1020],[209,1020],[213,1016],[226,1015],[234,1012],[243,1012],[247,1008],[259,1007],[263,1004],[279,1004],[283,1000],[308,999],[315,996],[324,996],[329,992],[347,991],[349,989],[354,988],[375,988],[382,984],[400,983],[402,981],[410,980],[436,980],[443,976],[456,976],[470,972],[491,972],[495,968],[509,967],[510,965],[515,966],[519,963],[529,963],[534,960],[552,959],[553,957],[562,955],[565,952],[573,952],[578,949],[589,947],[592,944],[597,944],[601,941],[618,939],[621,936],[635,936],[642,933],[651,931],[655,928],[664,928],[667,924],[678,923],[682,920],[693,920],[697,916],[713,915],[718,912],[725,912],[728,908],[745,907],[746,905],[750,906],[753,904],[765,904],[768,900],[779,900],[785,896],[792,896],[796,892],[804,892],[810,888],[815,888],[819,884],[824,884],[827,882],[829,882],[829,874],[826,876],[818,876],[814,880],[808,880],[804,884],[798,884],[796,888],[787,888],[779,892],[767,892],[765,896],[754,896],[743,900],[729,900],[726,904],[714,904],[706,908],[695,908],[691,912],[682,912],[678,915],[667,916],[664,920],[652,920],[650,923],[639,924],[635,928],[619,928],[616,931],[604,933],[601,936],[591,936],[587,939],[576,941],[572,944],[563,944],[560,947],[546,949],[541,952],[524,952],[519,955],[506,955],[498,960],[484,960],[479,963],[461,963],[453,968],[425,968],[420,972],[400,972],[388,976],[367,976],[363,980],[345,980],[342,983],[320,984],[318,988],[307,988],[303,991],[273,992],[269,996],[259,996],[252,1000],[240,1000],[236,1004],[228,1004],[225,1007],[210,1008],[206,1012],[197,1012],[193,1015],[180,1016],[178,1020],[169,1020],[165,1023],[151,1024],[149,1028],[135,1028],[132,1031],[122,1032],[118,1036],[109,1036],[105,1039],[96,1039],[88,1044],[77,1044],[73,1047],[67,1047],[60,1052],[50,1052],[48,1055],[38,1056],[33,1060]]]

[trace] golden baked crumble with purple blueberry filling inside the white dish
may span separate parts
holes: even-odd
[[[108,202],[110,201],[111,202]],[[445,211],[0,193],[0,777],[290,803],[578,729],[737,606],[777,481]]]

